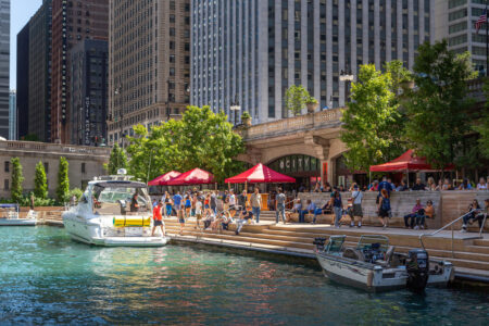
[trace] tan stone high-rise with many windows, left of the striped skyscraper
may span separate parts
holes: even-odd
[[[190,0],[111,1],[109,143],[189,103]]]

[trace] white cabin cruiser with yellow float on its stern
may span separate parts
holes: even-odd
[[[120,170],[116,176],[96,177],[78,204],[63,213],[63,225],[72,239],[105,247],[166,244],[164,235],[151,236],[152,205],[147,185],[125,174]]]

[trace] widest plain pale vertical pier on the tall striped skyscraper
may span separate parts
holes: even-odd
[[[259,1],[259,43],[258,43],[258,91],[259,91],[259,108],[260,122],[268,121],[268,3],[267,1]],[[256,80],[256,78],[255,78]]]

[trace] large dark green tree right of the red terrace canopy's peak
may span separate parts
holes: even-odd
[[[468,52],[449,51],[447,40],[423,43],[414,61],[416,89],[405,102],[406,136],[419,155],[442,170],[455,162],[469,130],[466,80],[474,76]]]

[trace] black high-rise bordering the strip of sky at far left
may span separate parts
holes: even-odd
[[[27,93],[28,99],[28,117],[20,116],[20,121],[27,120],[27,134],[47,142],[51,141],[51,22],[52,0],[45,0],[28,23],[28,62],[27,67],[22,67],[27,72],[17,70],[17,76],[27,73],[28,82],[27,90],[17,89],[18,96],[22,90],[23,93]],[[17,57],[24,51],[24,47],[21,49],[21,46],[17,45]],[[23,83],[23,80],[17,79],[17,84]],[[20,104],[22,104],[20,108],[24,106],[24,101],[25,99],[20,101]]]

